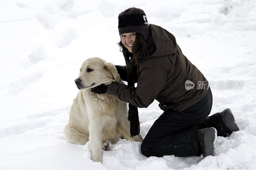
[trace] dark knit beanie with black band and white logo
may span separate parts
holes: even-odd
[[[118,15],[119,35],[124,33],[140,33],[144,41],[150,35],[146,14],[139,8],[128,8]]]

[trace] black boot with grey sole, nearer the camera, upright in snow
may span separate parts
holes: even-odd
[[[203,153],[204,158],[209,155],[215,156],[214,143],[217,139],[217,130],[215,128],[198,129],[197,137],[199,152]]]

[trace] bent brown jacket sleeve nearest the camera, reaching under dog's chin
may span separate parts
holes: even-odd
[[[113,94],[120,100],[136,107],[148,107],[163,90],[167,68],[160,65],[149,64],[140,70],[137,87],[112,82],[108,86],[108,93]]]

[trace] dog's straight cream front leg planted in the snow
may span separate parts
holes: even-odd
[[[94,117],[90,120],[89,130],[92,161],[102,162],[102,125],[99,118]]]

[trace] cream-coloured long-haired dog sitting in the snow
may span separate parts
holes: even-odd
[[[88,69],[89,68],[89,69]],[[92,71],[90,70],[92,69]],[[89,72],[88,72],[89,71]],[[116,67],[101,58],[89,58],[80,68],[76,83],[79,90],[69,112],[64,133],[70,143],[85,144],[90,140],[92,160],[102,162],[102,143],[117,141],[121,135],[142,142],[141,135],[130,137],[127,103],[108,93],[96,94],[91,88],[100,84],[121,82]],[[122,82],[121,82],[122,83]],[[103,148],[106,149],[106,144]]]

